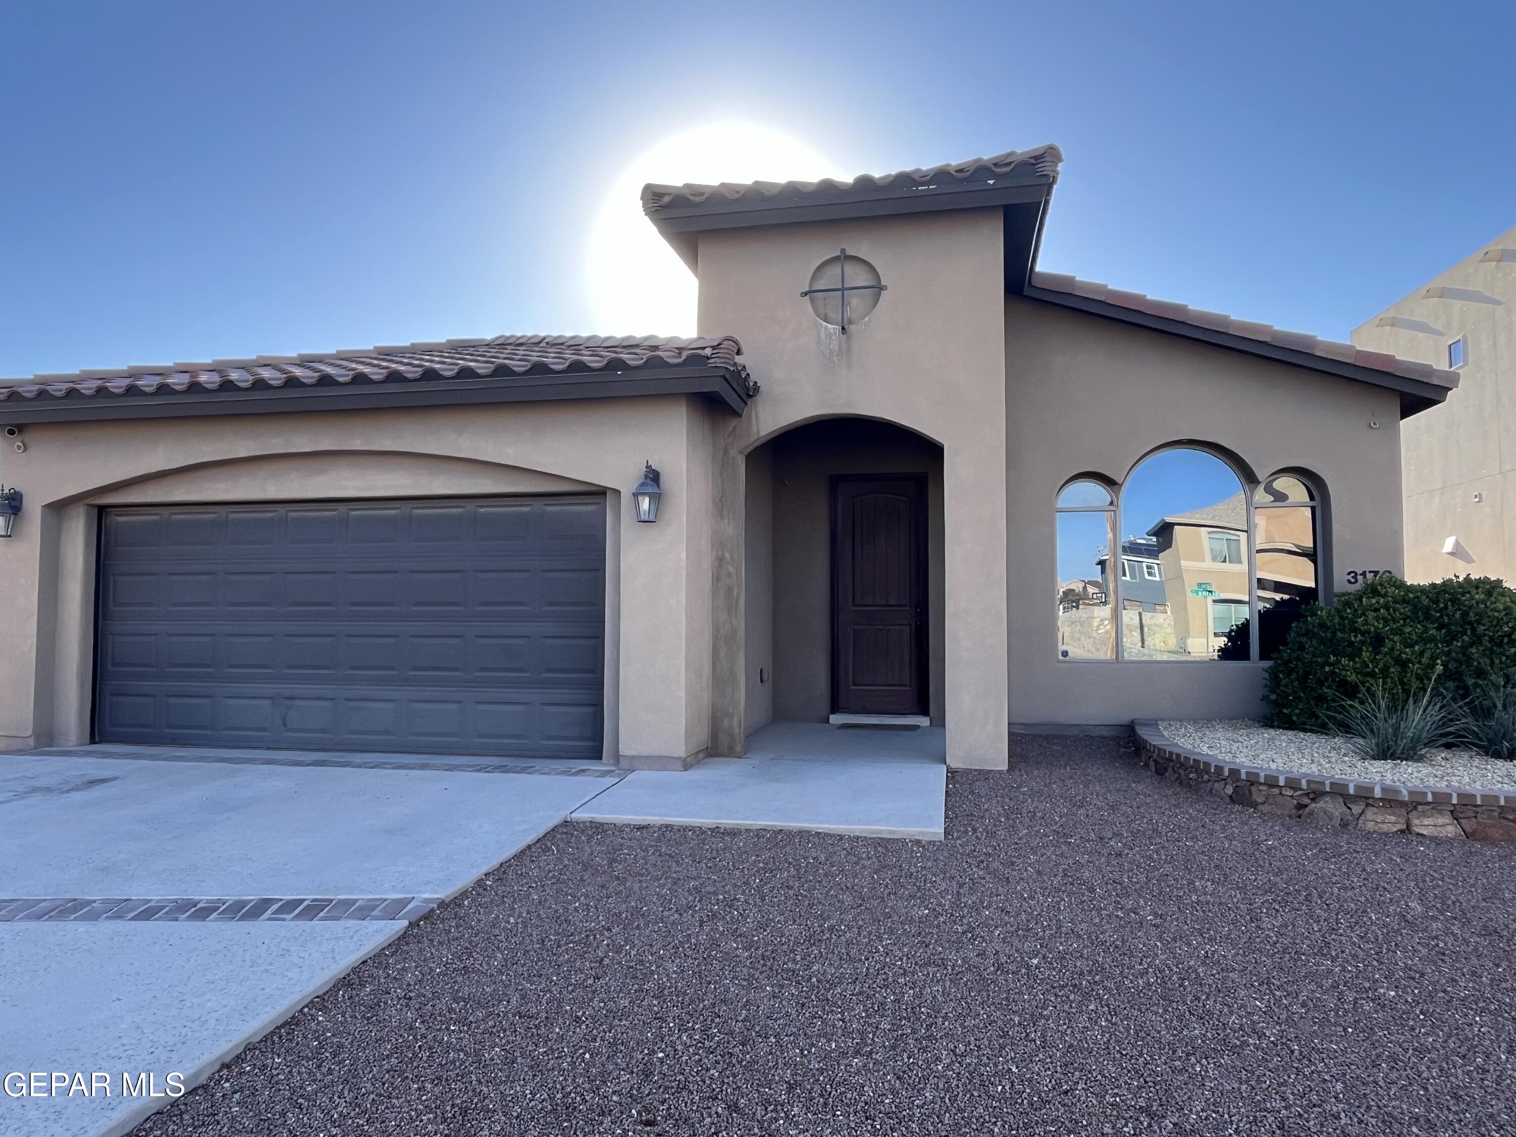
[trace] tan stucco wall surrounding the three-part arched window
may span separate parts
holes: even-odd
[[[1393,391],[1005,299],[1010,716],[1013,723],[1117,725],[1139,717],[1261,713],[1261,662],[1058,658],[1054,603],[1060,488],[1122,482],[1172,443],[1236,458],[1248,491],[1293,468],[1325,490],[1322,578],[1402,572],[1399,400]]]

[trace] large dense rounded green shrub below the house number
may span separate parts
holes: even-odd
[[[1451,702],[1475,700],[1516,673],[1516,590],[1483,576],[1380,576],[1331,606],[1307,608],[1269,667],[1266,722],[1328,729],[1345,702],[1383,694],[1402,705],[1439,667]]]

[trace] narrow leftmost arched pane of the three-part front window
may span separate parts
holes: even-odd
[[[1058,494],[1058,658],[1114,659],[1111,541],[1116,497],[1101,482]]]

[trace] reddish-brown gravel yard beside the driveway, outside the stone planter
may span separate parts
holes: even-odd
[[[1129,747],[1016,737],[940,843],[559,826],[138,1134],[1516,1132],[1516,849]]]

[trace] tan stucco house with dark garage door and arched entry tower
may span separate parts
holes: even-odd
[[[696,340],[0,387],[0,744],[682,769],[861,717],[1004,769],[1008,728],[1255,714],[1261,644],[1196,672],[1108,631],[1081,658],[1048,591],[1229,493],[1248,531],[1308,511],[1326,599],[1398,572],[1399,423],[1457,377],[1038,271],[1060,162],[647,186]]]

